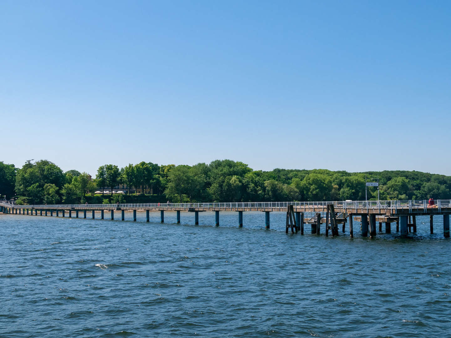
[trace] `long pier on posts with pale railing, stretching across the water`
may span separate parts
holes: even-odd
[[[101,212],[101,219],[104,219],[104,213],[109,212],[111,219],[114,219],[115,211],[121,212],[121,219],[124,220],[124,212],[133,211],[133,220],[136,221],[136,211],[146,211],[146,220],[149,222],[150,211],[160,211],[161,222],[164,222],[165,211],[176,211],[177,223],[180,223],[180,212],[193,212],[195,214],[195,224],[198,224],[198,213],[202,211],[215,211],[216,226],[219,226],[219,213],[221,211],[237,211],[238,225],[243,226],[243,212],[262,211],[265,213],[266,228],[270,228],[270,213],[274,211],[293,212],[295,217],[293,222],[296,228],[304,233],[304,224],[311,224],[312,233],[321,233],[321,224],[325,224],[326,234],[332,230],[335,235],[337,224],[349,223],[350,235],[353,234],[353,217],[359,217],[362,223],[362,236],[376,236],[376,223],[379,223],[379,231],[382,231],[382,223],[386,225],[386,233],[391,232],[391,223],[396,222],[397,230],[400,230],[402,237],[407,236],[408,231],[413,228],[416,232],[416,216],[430,216],[430,230],[433,233],[433,216],[443,216],[443,235],[449,237],[449,215],[451,214],[451,200],[437,200],[430,204],[426,200],[409,201],[318,201],[318,202],[206,202],[206,203],[148,203],[148,204],[57,204],[57,205],[16,205],[8,201],[0,201],[0,212],[18,215],[49,215],[66,217],[79,217],[80,212],[83,218],[91,213],[95,218],[95,212]],[[331,210],[333,210],[333,215]],[[310,218],[305,217],[305,213],[313,215]],[[330,217],[329,217],[330,216]],[[413,219],[411,223],[410,219]],[[329,223],[329,221],[331,223]],[[333,223],[333,224],[332,224]]]

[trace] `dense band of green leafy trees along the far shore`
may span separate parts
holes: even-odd
[[[63,172],[48,160],[27,161],[20,169],[0,162],[0,194],[16,198],[19,204],[132,201],[130,189],[136,188],[143,195],[141,202],[165,202],[166,199],[171,202],[364,200],[366,181],[377,179],[381,200],[451,198],[451,176],[419,171],[262,171],[233,160],[192,166],[143,161],[124,168],[105,164],[97,169],[96,177],[91,178],[86,172],[75,169]],[[112,193],[118,184],[128,188],[125,196]],[[109,195],[95,194],[105,188],[110,190]],[[377,188],[368,187],[368,199],[377,199]]]

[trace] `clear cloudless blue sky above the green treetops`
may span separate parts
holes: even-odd
[[[451,175],[451,1],[0,3],[0,160]]]

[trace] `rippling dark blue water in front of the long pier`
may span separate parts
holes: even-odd
[[[271,231],[261,212],[242,229],[234,212],[165,216],[0,215],[0,337],[451,336],[440,217],[372,240],[357,222],[354,239],[286,235],[283,213]]]

